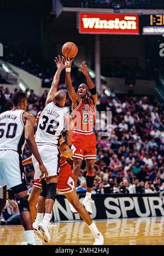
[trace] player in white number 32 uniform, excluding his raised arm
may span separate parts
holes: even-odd
[[[61,61],[61,59],[60,59]],[[63,61],[63,59],[62,59]],[[63,66],[65,66],[63,64]],[[61,70],[57,69],[57,76]],[[43,109],[40,115],[38,129],[36,132],[36,143],[40,156],[48,170],[48,179],[42,180],[42,192],[40,197],[45,200],[45,214],[42,222],[38,225],[38,230],[44,236],[44,240],[51,240],[49,232],[49,224],[51,220],[51,212],[55,203],[57,180],[60,173],[61,153],[58,149],[59,140],[62,132],[66,129],[66,139],[62,142],[60,148],[65,148],[71,144],[72,130],[70,128],[71,118],[65,107],[66,94],[65,91],[58,91],[55,97],[49,95],[49,104]],[[34,179],[39,179],[40,168],[34,156],[32,156],[33,166],[35,169]],[[38,213],[43,213],[42,202],[38,201]],[[34,226],[33,226],[34,228]]]

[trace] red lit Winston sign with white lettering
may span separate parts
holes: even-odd
[[[139,34],[137,14],[80,13],[79,33]]]

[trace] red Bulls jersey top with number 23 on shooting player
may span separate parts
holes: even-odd
[[[93,126],[95,125],[96,108],[91,98],[88,102],[81,98],[77,108],[73,110],[73,124],[74,132],[93,133]]]

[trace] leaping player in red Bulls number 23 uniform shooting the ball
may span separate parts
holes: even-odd
[[[72,61],[68,59],[66,64],[66,86],[68,89],[69,97],[72,101],[74,123],[71,142],[73,152],[74,182],[75,187],[77,187],[80,167],[83,159],[85,159],[87,168],[87,192],[83,201],[83,205],[85,206],[86,210],[92,214],[91,202],[93,202],[93,200],[91,199],[91,192],[95,177],[94,164],[96,159],[96,136],[93,133],[93,126],[95,124],[96,118],[96,103],[98,100],[98,95],[95,85],[93,84],[92,79],[87,72],[87,66],[85,62],[82,63],[79,70],[85,75],[88,86],[86,84],[80,84],[78,93],[75,92],[72,86]]]

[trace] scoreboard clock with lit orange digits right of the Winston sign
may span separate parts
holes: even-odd
[[[140,33],[164,34],[164,14],[140,16]]]

